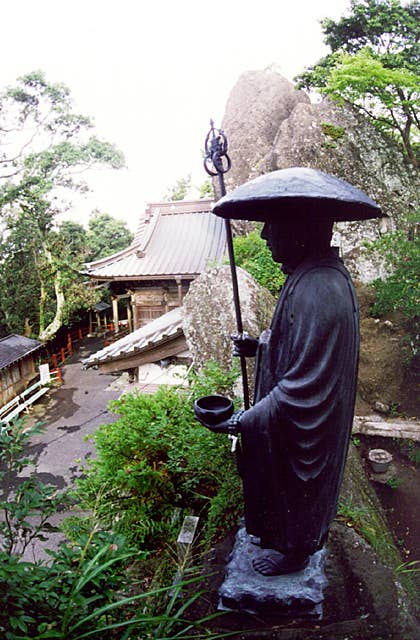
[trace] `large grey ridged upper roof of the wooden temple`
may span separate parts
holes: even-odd
[[[148,205],[130,247],[86,265],[95,279],[195,277],[225,251],[223,220],[210,200]]]

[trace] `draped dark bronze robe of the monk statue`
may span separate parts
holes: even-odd
[[[263,548],[308,555],[336,515],[354,413],[357,301],[334,249],[301,262],[259,340],[241,418],[245,524]]]

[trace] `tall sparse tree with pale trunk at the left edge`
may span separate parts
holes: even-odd
[[[68,295],[71,284],[78,283],[85,293],[73,249],[56,229],[56,216],[65,206],[62,195],[86,190],[80,176],[90,167],[123,165],[122,154],[89,135],[91,128],[89,118],[73,111],[69,89],[47,82],[39,71],[0,94],[0,276],[7,283],[0,307],[5,330],[22,332],[29,318],[33,332],[47,340],[78,305],[77,295]]]

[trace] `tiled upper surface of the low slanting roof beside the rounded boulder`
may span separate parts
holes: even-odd
[[[182,334],[182,309],[176,307],[140,327],[140,329],[136,329],[136,331],[113,342],[108,347],[101,349],[101,351],[93,353],[85,360],[84,366],[88,368],[114,360],[122,360],[128,356],[154,348],[158,344],[163,344]]]

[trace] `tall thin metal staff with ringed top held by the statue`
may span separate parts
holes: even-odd
[[[221,129],[215,129],[213,120],[210,120],[210,131],[206,136],[204,143],[205,157],[204,168],[209,176],[217,176],[219,179],[219,188],[221,197],[226,195],[224,174],[227,173],[232,166],[230,158],[227,154],[228,144],[226,135]],[[233,252],[232,242],[232,228],[230,225],[230,219],[225,218],[226,229],[226,241],[229,254],[230,273],[232,277],[233,287],[233,302],[235,305],[236,326],[238,333],[242,335],[242,315],[241,306],[239,302],[239,289],[238,278],[236,274],[235,255]],[[242,372],[242,385],[244,390],[244,407],[249,409],[249,386],[248,386],[248,374],[246,370],[246,359],[244,356],[240,356],[241,360],[241,372]]]

